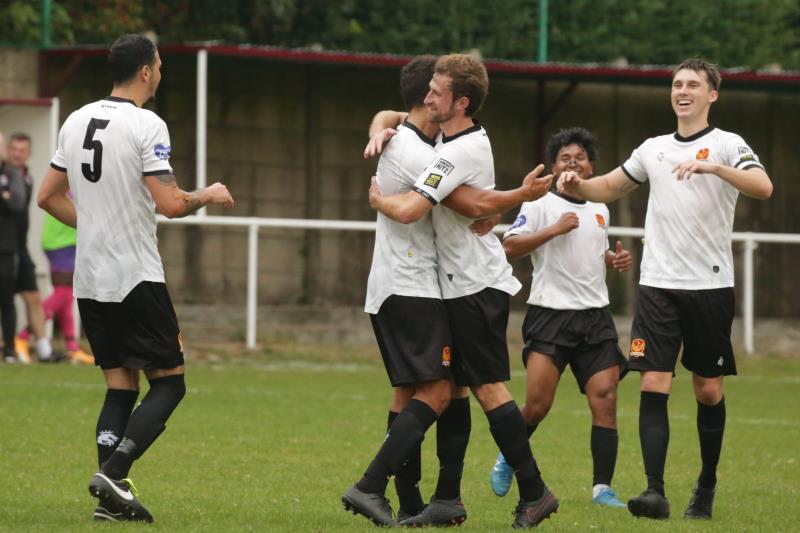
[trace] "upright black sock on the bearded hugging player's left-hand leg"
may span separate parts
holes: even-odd
[[[461,474],[467,454],[472,418],[469,398],[454,398],[436,423],[436,455],[439,479],[434,498],[454,500],[461,496]]]

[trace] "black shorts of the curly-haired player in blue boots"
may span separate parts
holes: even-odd
[[[619,348],[617,328],[607,307],[559,310],[529,305],[522,340],[525,366],[531,352],[549,356],[562,374],[569,364],[583,394],[589,379],[602,370],[618,366],[620,379],[628,372],[628,361]]]

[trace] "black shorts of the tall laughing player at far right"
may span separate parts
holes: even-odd
[[[707,290],[640,286],[631,328],[631,370],[675,372],[681,363],[695,374],[735,375],[731,346],[733,287]]]

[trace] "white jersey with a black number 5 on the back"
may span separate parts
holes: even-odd
[[[73,112],[51,166],[66,172],[78,212],[75,296],[121,302],[142,281],[164,282],[155,203],[144,175],[172,173],[164,121],[108,97]]]

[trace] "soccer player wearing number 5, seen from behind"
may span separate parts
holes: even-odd
[[[74,290],[108,388],[97,420],[100,470],[89,482],[99,499],[95,518],[152,522],[128,472],[186,392],[155,215],[182,217],[211,203],[232,207],[233,198],[221,183],[195,192],[178,188],[166,124],[141,107],[161,80],[155,44],[124,35],[108,63],[111,95],[67,118],[38,203],[78,229]],[[134,410],[142,371],[150,389]]]

